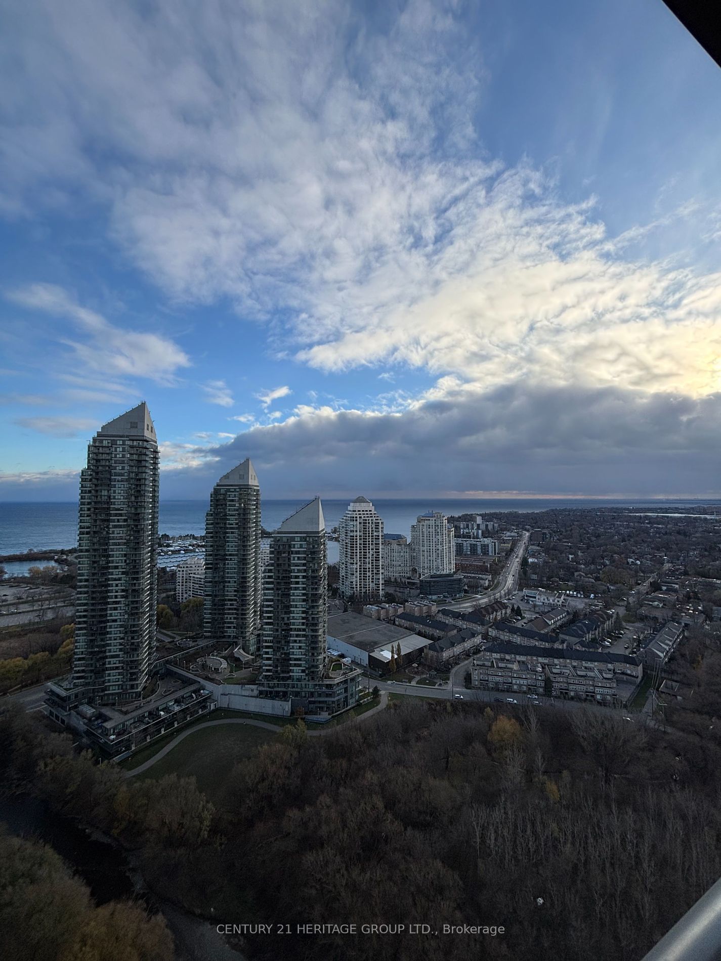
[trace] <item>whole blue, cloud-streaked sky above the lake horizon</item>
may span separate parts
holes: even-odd
[[[721,71],[660,0],[0,0],[0,501],[721,495]]]

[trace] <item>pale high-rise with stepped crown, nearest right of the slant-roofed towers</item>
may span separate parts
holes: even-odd
[[[383,519],[370,501],[357,497],[338,524],[340,536],[339,593],[346,601],[383,599]]]

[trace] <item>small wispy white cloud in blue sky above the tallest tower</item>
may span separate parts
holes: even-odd
[[[56,284],[32,283],[7,291],[6,298],[21,307],[73,321],[87,339],[60,339],[73,350],[76,361],[94,373],[172,384],[179,368],[190,365],[189,358],[172,340],[157,333],[114,327],[99,313],[82,307]]]

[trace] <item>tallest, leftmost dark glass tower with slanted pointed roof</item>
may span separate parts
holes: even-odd
[[[155,657],[158,440],[145,403],[98,431],[80,478],[75,651],[56,713],[139,701]]]

